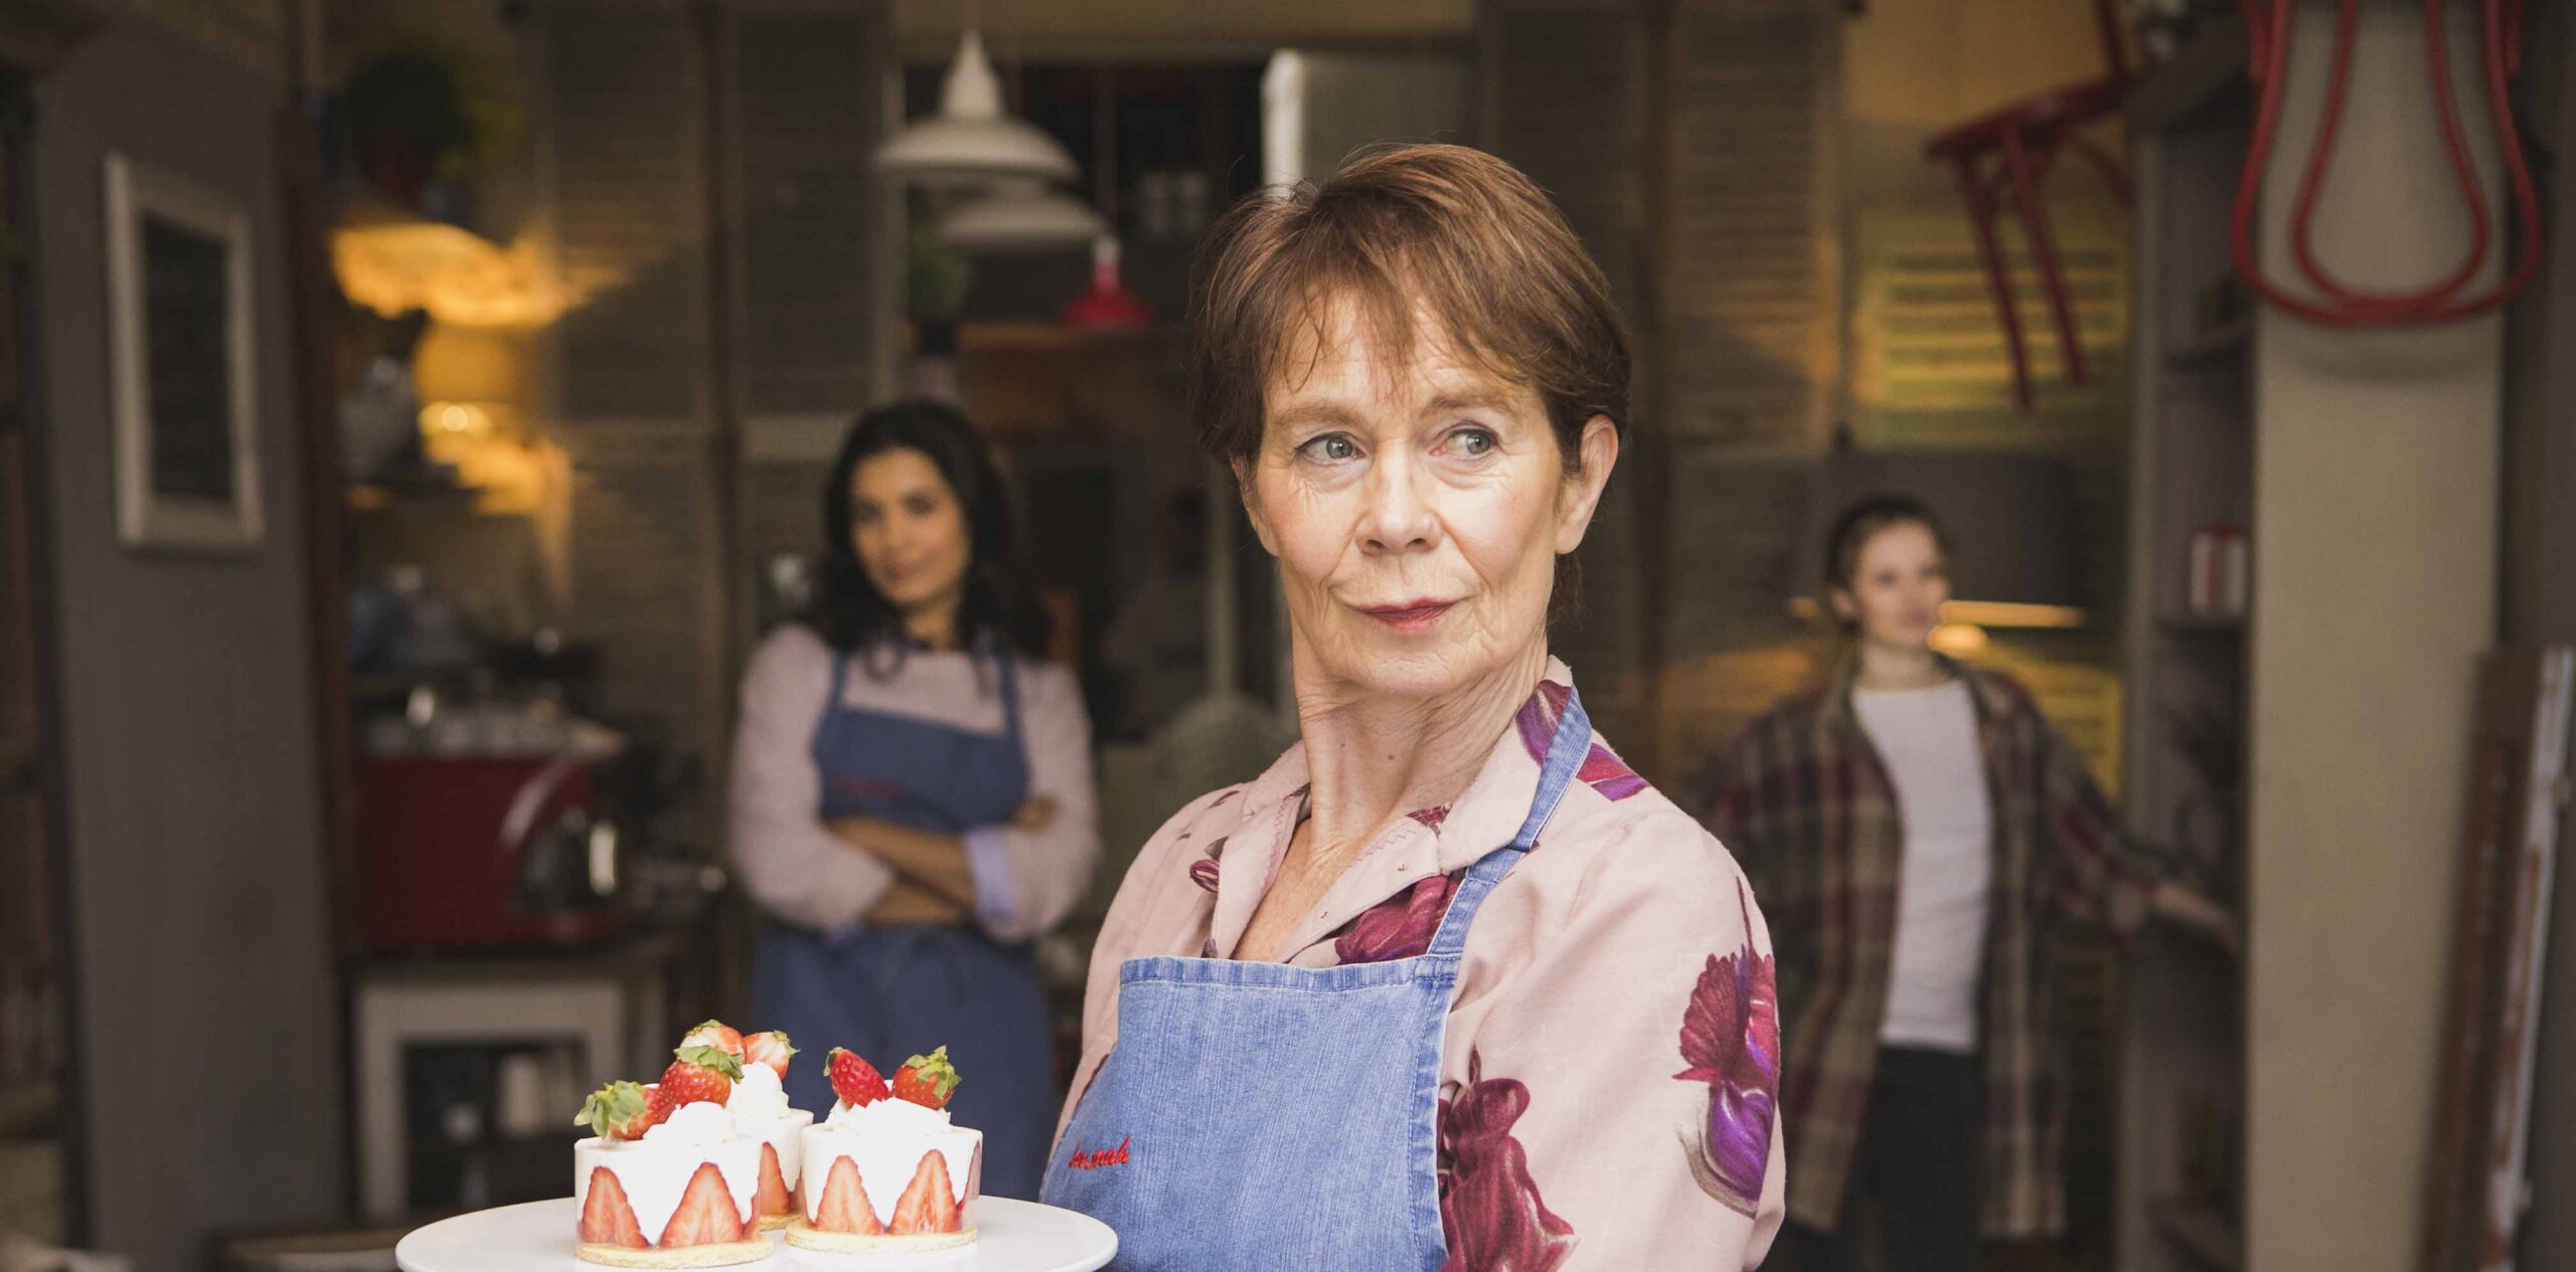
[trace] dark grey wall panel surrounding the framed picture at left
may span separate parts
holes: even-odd
[[[36,291],[52,448],[77,1069],[100,1249],[206,1259],[219,1228],[340,1210],[286,239],[283,88],[118,18],[36,85]],[[116,543],[100,157],[252,216],[260,497],[240,556]]]

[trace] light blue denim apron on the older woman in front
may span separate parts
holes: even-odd
[[[1118,1045],[1041,1200],[1118,1231],[1131,1272],[1422,1269],[1440,1236],[1440,1045],[1466,930],[1592,747],[1569,698],[1530,816],[1450,896],[1430,950],[1293,968],[1128,958]]]

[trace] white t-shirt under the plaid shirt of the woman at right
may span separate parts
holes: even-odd
[[[1976,991],[1986,968],[1986,886],[1994,803],[1965,682],[1855,690],[1852,708],[1896,783],[1904,868],[1888,966],[1888,1045],[1976,1051]]]

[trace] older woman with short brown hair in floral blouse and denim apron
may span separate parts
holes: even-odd
[[[1770,935],[1548,657],[1628,409],[1600,268],[1510,165],[1401,147],[1239,203],[1195,296],[1301,744],[1128,870],[1043,1197],[1131,1269],[1757,1264]]]

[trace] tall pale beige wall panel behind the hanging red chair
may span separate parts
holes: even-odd
[[[2465,15],[2465,13],[2455,13]],[[2303,8],[2264,260],[2334,8]],[[2318,255],[2360,286],[2465,234],[2419,15],[2370,5]],[[2476,85],[2465,23],[2460,85]],[[2468,108],[2476,129],[2483,111]],[[2246,1267],[2414,1269],[2476,659],[2496,633],[2501,324],[2257,330]]]

